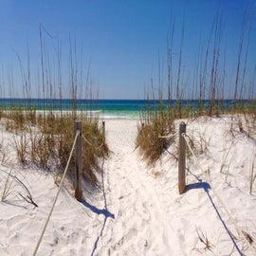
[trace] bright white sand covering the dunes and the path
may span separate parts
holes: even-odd
[[[136,150],[137,121],[106,120],[111,154],[101,159],[101,191],[83,184],[79,202],[65,182],[37,255],[256,255],[256,180],[249,192],[256,140],[232,136],[229,117],[185,121],[196,159],[179,194],[177,143],[148,167]],[[21,167],[3,125],[0,137],[9,152],[0,166],[1,198],[9,186],[0,202],[0,255],[33,255],[58,191],[55,174]]]

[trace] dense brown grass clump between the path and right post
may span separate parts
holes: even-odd
[[[147,164],[154,165],[174,140],[174,137],[166,137],[174,134],[174,119],[160,103],[158,109],[148,108],[141,115],[137,130],[137,148]]]

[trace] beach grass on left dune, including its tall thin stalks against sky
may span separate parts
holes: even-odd
[[[108,155],[108,146],[101,132],[98,117],[92,117],[90,111],[93,97],[92,82],[89,76],[89,68],[86,73],[86,84],[83,84],[82,51],[77,51],[76,42],[69,40],[69,52],[67,64],[64,67],[62,50],[59,41],[56,41],[43,25],[39,27],[40,39],[40,69],[37,70],[38,96],[43,101],[43,113],[39,113],[30,104],[25,107],[18,105],[15,100],[14,79],[12,67],[8,69],[9,98],[8,109],[1,114],[7,119],[6,128],[13,133],[13,145],[20,163],[33,163],[46,170],[55,167],[64,170],[69,156],[73,139],[75,137],[74,124],[76,119],[82,119],[83,137],[91,142],[83,147],[83,176],[92,185],[98,184],[98,172],[101,172],[99,159]],[[54,42],[53,42],[54,41]],[[54,50],[47,47],[46,42],[56,43]],[[51,54],[52,53],[52,54]],[[27,102],[31,100],[32,72],[30,70],[29,47],[27,46],[27,64],[23,64],[23,59],[17,54],[18,64],[22,82],[23,99]],[[56,68],[55,68],[56,66]],[[65,72],[64,72],[65,70]],[[66,81],[67,80],[67,81]],[[2,90],[2,77],[0,81]],[[67,84],[67,86],[65,86]],[[84,108],[78,115],[77,100],[82,96],[89,97],[84,104]],[[58,114],[53,111],[54,99],[60,99],[60,111]],[[64,113],[64,95],[72,101],[71,114]],[[2,106],[1,106],[2,107]],[[2,110],[2,108],[0,109]],[[99,147],[101,146],[101,147]],[[70,177],[73,175],[74,159],[70,166]]]

